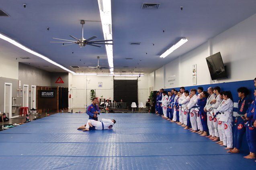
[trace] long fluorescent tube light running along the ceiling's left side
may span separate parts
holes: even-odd
[[[45,57],[45,56],[43,56],[43,55],[41,55],[41,54],[31,50],[31,49],[29,49],[25,45],[20,44],[19,42],[13,40],[12,38],[10,38],[10,37],[2,34],[2,33],[0,33],[0,38],[10,42],[11,44],[15,45],[16,47],[18,47],[20,49],[23,49],[24,51],[27,51],[28,53],[36,55],[37,57],[40,57],[41,59],[44,59],[45,61],[48,61],[49,63],[52,63],[53,65],[56,65],[56,66],[60,67],[61,69],[64,69],[64,70],[66,70],[66,71],[68,71],[70,73],[73,73],[73,74],[75,73],[74,71],[71,71],[71,70],[67,69],[66,67],[63,67],[62,65],[60,65],[60,64],[52,61],[51,59],[49,59],[49,58],[47,58],[47,57]]]

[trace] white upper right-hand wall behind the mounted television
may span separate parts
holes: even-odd
[[[193,64],[197,64],[197,85],[254,79],[255,45],[256,14],[151,73],[156,75],[155,90],[192,86]],[[212,81],[205,58],[218,52],[221,52],[223,63],[227,65],[228,78]],[[173,75],[176,75],[177,81],[170,84],[168,80]]]

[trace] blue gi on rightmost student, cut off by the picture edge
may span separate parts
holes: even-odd
[[[249,119],[248,123],[246,124],[246,140],[248,142],[249,150],[252,153],[256,153],[256,127],[253,126],[253,123],[256,119],[255,103],[256,98],[254,101],[252,101],[252,104],[246,111],[247,117]]]

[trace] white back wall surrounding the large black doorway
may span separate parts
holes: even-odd
[[[71,108],[84,108],[85,104],[90,105],[90,90],[96,90],[96,97],[105,99],[114,98],[114,81],[111,76],[97,75],[69,75],[71,89]],[[137,79],[137,77],[115,77],[115,79]],[[102,82],[102,87],[98,87],[98,82]],[[138,78],[138,102],[145,102],[149,96],[148,75]]]

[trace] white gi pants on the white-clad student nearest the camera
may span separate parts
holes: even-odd
[[[227,122],[222,122],[223,145],[233,148],[232,120],[229,117]]]

